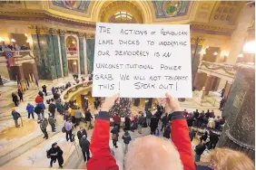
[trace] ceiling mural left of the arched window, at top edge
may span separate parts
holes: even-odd
[[[73,0],[53,1],[53,5],[64,7],[66,9],[70,9],[70,10],[82,12],[82,13],[87,13],[89,4],[90,4],[90,1],[73,1]]]

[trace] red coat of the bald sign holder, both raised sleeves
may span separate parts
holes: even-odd
[[[101,114],[105,119],[101,119]],[[95,121],[90,150],[93,157],[87,162],[88,170],[118,170],[115,159],[110,153],[109,130],[110,122],[106,118],[106,112],[100,112]],[[172,120],[172,142],[177,147],[184,170],[195,170],[192,145],[189,137],[189,128],[186,119]]]

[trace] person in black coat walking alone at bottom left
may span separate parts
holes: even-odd
[[[52,148],[49,150],[49,154],[51,156],[51,162],[50,162],[50,167],[53,167],[53,163],[56,162],[56,159],[58,160],[59,163],[59,167],[63,168],[63,164],[64,164],[64,158],[63,158],[63,150],[61,149],[60,146],[57,145],[57,143],[55,142],[52,145]]]

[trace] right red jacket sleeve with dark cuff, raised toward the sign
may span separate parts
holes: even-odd
[[[172,142],[180,153],[184,170],[195,170],[192,157],[192,145],[189,137],[189,127],[186,119],[183,118],[182,112],[174,112],[172,114]]]

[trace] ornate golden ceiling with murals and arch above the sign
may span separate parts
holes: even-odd
[[[124,11],[136,23],[191,24],[198,31],[231,34],[243,1],[1,1],[0,19],[94,29]]]

